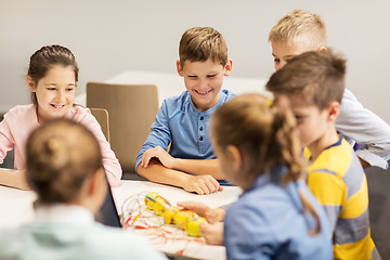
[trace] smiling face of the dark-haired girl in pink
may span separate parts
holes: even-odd
[[[37,84],[29,76],[26,81],[37,96],[39,122],[64,117],[74,105],[76,76],[70,66],[53,66]]]

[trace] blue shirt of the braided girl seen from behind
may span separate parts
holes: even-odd
[[[224,243],[227,259],[333,259],[332,232],[324,209],[303,181],[284,185],[286,167],[261,174],[253,186],[227,208]],[[316,221],[303,210],[298,188],[315,209]]]

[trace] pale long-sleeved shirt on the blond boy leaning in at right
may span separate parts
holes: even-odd
[[[356,155],[382,169],[390,159],[390,126],[369,109],[363,107],[351,91],[346,89],[336,128],[352,145],[363,145]]]

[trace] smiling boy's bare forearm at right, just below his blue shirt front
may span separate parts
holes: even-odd
[[[218,159],[176,158],[172,169],[195,176],[210,174],[217,180],[225,180],[225,177],[219,169]]]

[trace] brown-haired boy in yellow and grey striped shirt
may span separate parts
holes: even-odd
[[[287,101],[301,144],[310,151],[308,186],[328,216],[335,259],[380,259],[369,232],[368,191],[352,147],[336,130],[346,60],[306,52],[272,75],[266,89]]]

